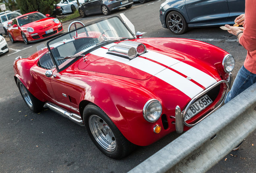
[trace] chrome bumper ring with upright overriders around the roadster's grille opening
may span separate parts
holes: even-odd
[[[227,86],[227,90],[225,92],[225,95],[223,97],[223,100],[221,101],[221,103],[219,104],[219,106],[217,106],[215,109],[213,109],[212,111],[210,111],[209,113],[205,114],[203,117],[200,118],[200,120],[198,120],[196,123],[194,124],[188,124],[186,123],[186,121],[184,121],[184,116],[186,115],[190,105],[192,105],[197,99],[199,99],[200,97],[202,97],[203,95],[205,95],[208,91],[210,91],[211,89],[213,89],[214,87],[216,87],[217,85],[221,84],[221,83],[225,83]],[[213,84],[211,87],[207,88],[206,90],[204,90],[202,93],[199,93],[198,95],[196,95],[187,105],[187,107],[184,109],[184,111],[182,112],[179,106],[176,106],[175,108],[175,117],[171,116],[171,118],[175,119],[175,127],[176,127],[176,132],[177,133],[182,133],[183,129],[184,129],[184,125],[188,126],[188,127],[193,127],[195,125],[197,125],[198,123],[200,123],[203,119],[205,119],[206,117],[208,117],[209,115],[211,115],[212,113],[214,113],[215,111],[217,111],[222,105],[224,105],[224,101],[225,98],[227,96],[228,91],[231,89],[233,84],[233,76],[231,73],[229,73],[229,77],[227,80],[220,80],[219,82]]]

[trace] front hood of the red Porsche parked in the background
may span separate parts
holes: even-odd
[[[56,23],[53,21],[53,19],[54,18],[43,18],[41,20],[37,20],[35,22],[31,22],[31,23],[25,24],[25,25],[21,26],[21,28],[31,27],[34,30],[37,30],[37,29],[41,30],[41,29],[44,29],[44,28],[47,28],[47,27],[55,25]]]

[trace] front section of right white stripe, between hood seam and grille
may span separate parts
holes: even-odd
[[[217,80],[215,80],[215,78],[213,78],[212,76],[209,76],[209,74],[206,74],[205,72],[202,72],[201,70],[198,70],[197,68],[194,68],[193,66],[190,66],[184,62],[175,64],[171,66],[171,68],[177,70],[178,72],[181,72],[186,76],[191,77],[193,80],[195,80],[205,88],[208,88],[217,82]]]

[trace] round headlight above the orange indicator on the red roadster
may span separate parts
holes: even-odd
[[[151,99],[147,101],[143,108],[143,116],[145,120],[153,123],[157,121],[162,113],[162,105],[156,99]]]

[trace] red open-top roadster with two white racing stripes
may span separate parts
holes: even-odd
[[[231,54],[196,40],[133,33],[114,16],[17,57],[14,78],[29,109],[50,108],[85,126],[102,153],[121,159],[221,107],[232,85]]]

